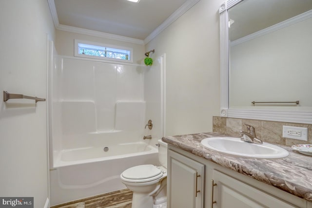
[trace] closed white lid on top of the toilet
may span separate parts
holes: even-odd
[[[121,175],[122,177],[126,179],[140,180],[140,179],[152,178],[158,175],[159,177],[161,177],[162,172],[161,170],[156,168],[156,166],[154,165],[140,165],[140,166],[135,166],[135,167],[132,167],[123,171]]]

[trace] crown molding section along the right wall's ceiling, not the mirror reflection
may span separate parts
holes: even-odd
[[[166,29],[171,23],[176,21],[180,16],[192,8],[199,0],[188,0],[182,6],[180,6],[168,19],[161,23],[148,37],[144,39],[144,44],[150,42],[159,33]]]

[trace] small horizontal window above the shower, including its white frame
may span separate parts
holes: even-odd
[[[75,57],[133,62],[133,49],[75,39]]]

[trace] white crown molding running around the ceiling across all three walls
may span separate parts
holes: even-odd
[[[54,26],[57,30],[72,32],[72,33],[79,33],[83,35],[95,36],[99,38],[109,38],[124,42],[130,42],[135,44],[144,45],[155,38],[161,31],[166,29],[171,23],[173,23],[176,19],[178,19],[181,15],[183,15],[186,11],[188,11],[192,6],[194,6],[199,0],[188,0],[186,1],[180,8],[178,8],[168,19],[166,19],[161,25],[159,25],[147,38],[144,40],[136,39],[136,38],[129,38],[125,36],[118,36],[109,33],[98,32],[94,30],[88,30],[68,25],[59,24],[58,13],[55,7],[54,0],[48,0],[48,4],[50,7],[50,12],[52,15],[52,19],[54,22]]]

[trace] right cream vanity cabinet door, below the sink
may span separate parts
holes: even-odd
[[[213,208],[296,208],[217,170],[213,170],[213,179]]]

